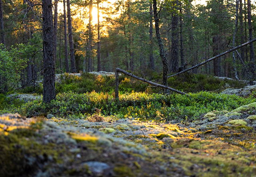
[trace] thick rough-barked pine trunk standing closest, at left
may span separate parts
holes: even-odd
[[[44,81],[43,102],[55,99],[55,60],[54,37],[52,24],[52,0],[42,0],[43,10],[43,51],[44,51]]]

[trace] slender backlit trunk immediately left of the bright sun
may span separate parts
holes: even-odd
[[[89,2],[89,24],[88,24],[88,72],[92,71],[92,0]]]

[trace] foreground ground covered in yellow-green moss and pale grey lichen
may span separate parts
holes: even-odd
[[[183,124],[0,116],[6,176],[256,176],[256,102]],[[15,165],[14,165],[15,164]],[[10,166],[12,169],[10,170]]]

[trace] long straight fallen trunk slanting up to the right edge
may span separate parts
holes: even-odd
[[[221,57],[221,56],[223,56],[223,55],[226,55],[226,54],[228,54],[228,53],[230,53],[230,52],[232,52],[232,51],[235,51],[235,50],[237,50],[237,49],[240,49],[240,48],[242,48],[242,47],[244,47],[244,46],[246,46],[246,45],[248,45],[248,44],[250,44],[250,43],[253,43],[253,42],[255,42],[255,41],[256,41],[256,38],[254,38],[254,39],[252,39],[252,40],[250,40],[250,41],[248,41],[248,42],[246,42],[246,43],[243,43],[243,44],[241,44],[241,45],[238,45],[238,46],[236,46],[236,47],[234,47],[234,48],[232,48],[232,49],[230,49],[230,50],[228,50],[228,51],[225,51],[224,53],[220,53],[219,55],[216,55],[216,56],[214,56],[214,57],[212,57],[212,58],[210,58],[210,59],[208,59],[208,60],[206,60],[206,61],[203,61],[202,63],[199,63],[199,64],[197,64],[197,65],[194,65],[194,66],[192,66],[192,67],[190,67],[190,68],[188,68],[188,69],[185,69],[185,70],[180,71],[180,72],[178,72],[178,73],[176,73],[176,74],[167,76],[167,78],[173,77],[173,76],[176,76],[176,75],[180,75],[180,74],[186,73],[187,71],[190,71],[190,70],[192,70],[192,69],[198,68],[198,67],[200,67],[200,66],[202,66],[202,65],[204,65],[204,64],[206,64],[206,63],[208,63],[208,62],[210,62],[210,61],[212,61],[212,60],[214,60],[214,59],[217,59],[217,58],[219,58],[219,57]]]

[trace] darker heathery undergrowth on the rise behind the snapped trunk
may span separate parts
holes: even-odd
[[[152,73],[148,76],[135,73],[136,75],[154,81],[156,83],[162,83],[161,75]],[[82,73],[81,77],[74,75],[62,75],[60,77],[61,82],[56,82],[56,92],[76,92],[86,93],[95,90],[96,92],[114,92],[115,88],[115,77],[113,76],[101,76],[92,75],[89,73]],[[119,91],[125,92],[148,92],[148,93],[159,93],[163,90],[158,87],[150,87],[150,85],[141,81],[130,78],[124,74],[119,77]],[[213,91],[222,90],[227,87],[240,88],[244,87],[245,84],[241,81],[233,80],[221,80],[211,75],[203,74],[192,74],[185,73],[180,76],[170,77],[168,79],[168,85],[175,89],[184,92],[198,92],[198,91]],[[34,87],[25,87],[19,89],[18,92],[22,93],[38,93],[42,94],[42,84],[38,84]]]

